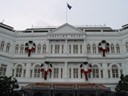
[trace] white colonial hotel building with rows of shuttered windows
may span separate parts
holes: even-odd
[[[109,45],[105,56],[99,51],[102,41]],[[28,56],[26,43],[31,42],[35,50]],[[40,72],[45,61],[52,64],[46,80]],[[92,65],[88,80],[81,73],[83,62]],[[128,25],[115,30],[66,23],[19,31],[0,23],[0,75],[15,77],[21,87],[36,82],[96,83],[113,91],[121,74],[128,75]]]

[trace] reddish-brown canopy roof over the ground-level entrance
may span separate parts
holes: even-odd
[[[105,89],[109,90],[103,84],[95,83],[32,83],[24,87],[26,88],[45,88],[45,89]]]

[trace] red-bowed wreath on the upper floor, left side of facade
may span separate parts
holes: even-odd
[[[30,57],[31,55],[31,52],[32,51],[35,51],[36,49],[36,45],[35,43],[33,43],[33,41],[28,41],[26,44],[25,44],[25,51],[28,52],[28,56]]]

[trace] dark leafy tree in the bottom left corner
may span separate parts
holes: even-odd
[[[14,89],[17,88],[19,85],[15,78],[0,76],[0,96],[13,96]]]

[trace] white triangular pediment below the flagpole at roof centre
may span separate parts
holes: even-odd
[[[55,33],[55,34],[81,34],[83,32],[78,30],[76,27],[66,23],[66,24],[58,27],[52,33]]]

